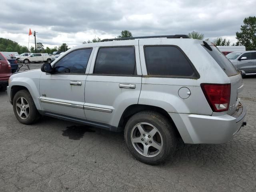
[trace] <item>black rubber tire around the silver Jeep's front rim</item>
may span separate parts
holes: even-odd
[[[28,117],[26,119],[22,119],[19,115],[18,115],[18,112],[16,110],[16,102],[18,99],[20,99],[21,97],[25,98],[26,99],[26,102],[28,103],[29,105],[29,114],[28,114]],[[33,124],[35,123],[39,118],[40,118],[40,114],[38,112],[38,110],[36,109],[36,106],[34,104],[34,101],[33,101],[33,98],[32,96],[30,95],[30,93],[28,92],[28,90],[20,90],[18,91],[14,98],[13,98],[13,111],[14,111],[14,114],[16,116],[16,118],[18,119],[19,122],[21,122],[22,124]]]

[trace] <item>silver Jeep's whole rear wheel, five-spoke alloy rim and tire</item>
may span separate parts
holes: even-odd
[[[124,139],[131,154],[141,162],[164,162],[176,148],[174,124],[158,112],[142,111],[126,123]]]

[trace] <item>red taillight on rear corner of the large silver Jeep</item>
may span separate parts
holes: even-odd
[[[230,84],[201,84],[213,112],[227,111],[230,102]]]

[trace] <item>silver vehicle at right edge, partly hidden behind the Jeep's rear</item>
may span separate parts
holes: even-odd
[[[226,57],[245,75],[256,75],[256,51],[232,52]]]

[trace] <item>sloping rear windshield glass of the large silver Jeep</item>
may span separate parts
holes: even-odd
[[[203,46],[205,50],[214,58],[214,60],[219,64],[219,66],[222,68],[222,70],[227,74],[227,76],[233,76],[236,74],[239,74],[239,71],[234,67],[234,65],[224,56],[218,48],[215,46],[210,46],[212,50],[209,50],[205,46]]]

